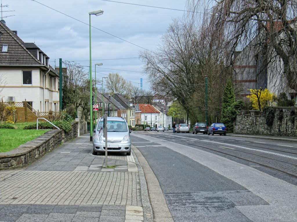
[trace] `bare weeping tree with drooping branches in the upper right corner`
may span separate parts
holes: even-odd
[[[287,86],[297,91],[296,0],[224,0],[212,9],[218,16],[210,25],[228,39],[226,45],[232,53],[252,42],[255,53],[247,57],[264,58],[274,84],[286,80]]]

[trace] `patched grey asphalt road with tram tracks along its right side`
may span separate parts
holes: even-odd
[[[296,143],[172,131],[131,136],[174,221],[297,221],[297,197],[291,202],[289,191],[297,191]]]

